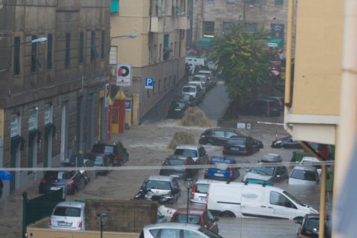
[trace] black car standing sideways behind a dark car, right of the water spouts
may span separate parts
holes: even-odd
[[[226,140],[228,138],[231,138],[232,136],[244,137],[245,135],[242,135],[241,133],[233,129],[211,128],[205,130],[205,132],[201,134],[200,141],[198,143],[200,143],[201,145],[224,145],[226,143]],[[253,140],[260,149],[263,148],[262,141],[254,138]]]

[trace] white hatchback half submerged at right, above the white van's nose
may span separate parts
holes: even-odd
[[[288,184],[291,185],[315,185],[320,181],[317,169],[312,166],[295,166],[291,171]]]

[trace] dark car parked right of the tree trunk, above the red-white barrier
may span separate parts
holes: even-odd
[[[280,104],[273,100],[257,99],[250,101],[245,110],[250,115],[280,117]]]

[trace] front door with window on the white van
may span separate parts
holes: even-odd
[[[293,219],[297,216],[297,207],[282,193],[269,192],[268,213],[271,218]]]

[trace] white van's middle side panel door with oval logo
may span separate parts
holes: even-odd
[[[262,187],[243,187],[241,212],[246,217],[267,217],[267,190]]]

